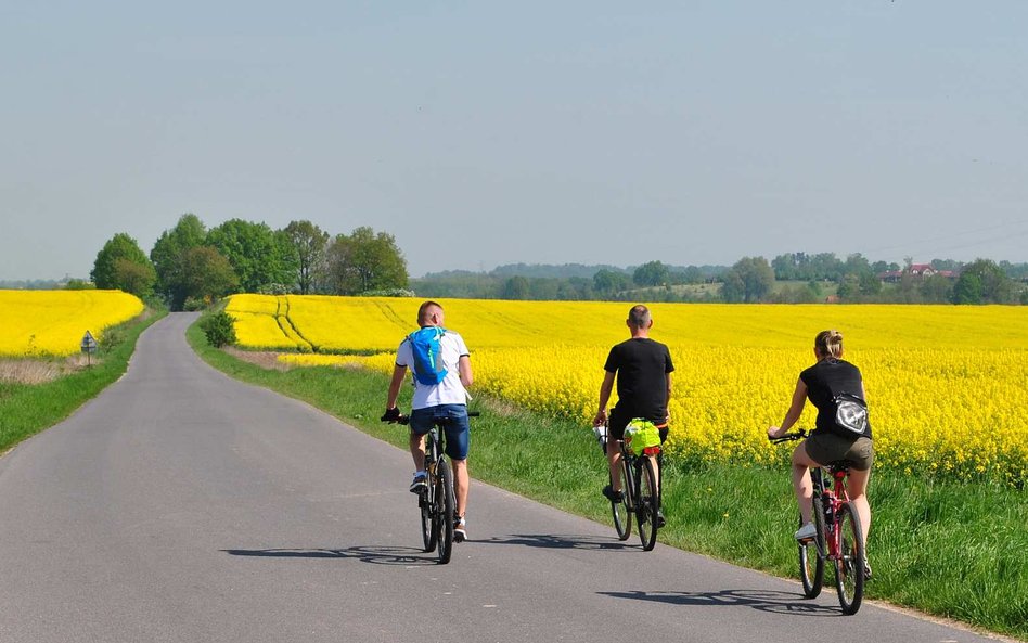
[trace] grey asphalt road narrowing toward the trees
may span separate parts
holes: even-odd
[[[193,319],[152,326],[125,377],[0,458],[0,642],[987,640],[844,617],[834,591],[643,552],[480,484],[471,540],[437,565],[410,456],[214,371]]]

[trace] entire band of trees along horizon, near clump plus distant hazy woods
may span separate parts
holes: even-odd
[[[743,257],[732,266],[514,263],[412,280],[395,237],[370,227],[333,236],[307,220],[273,230],[230,219],[207,229],[192,214],[165,230],[149,254],[128,234],[115,234],[90,278],[91,284],[73,280],[68,287],[159,297],[172,310],[232,293],[413,295],[409,288],[439,298],[1028,304],[1028,263],[934,259],[918,266],[907,258],[900,266],[833,253]]]

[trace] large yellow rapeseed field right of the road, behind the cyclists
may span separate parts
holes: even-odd
[[[281,317],[275,297],[233,298],[241,343],[247,326]],[[389,372],[412,330],[419,300],[279,297],[287,326],[322,355],[298,364],[361,363]],[[270,304],[269,304],[270,301]],[[595,413],[609,347],[628,337],[629,305],[441,301],[446,324],[472,350],[475,388],[543,413]],[[1028,479],[1028,308],[953,306],[769,306],[656,304],[653,338],[676,365],[669,450],[702,462],[781,462],[766,439],[788,406],[799,372],[813,363],[814,335],[837,329],[846,359],[864,374],[881,466],[950,478]],[[272,322],[279,327],[278,322]],[[256,334],[256,331],[254,331]],[[278,344],[275,344],[278,342]],[[375,353],[324,355],[332,352]],[[814,412],[800,425],[811,427]]]

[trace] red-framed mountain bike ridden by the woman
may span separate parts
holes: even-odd
[[[778,438],[772,442],[792,442],[809,434],[800,429]],[[821,468],[810,470],[813,483],[813,510],[811,516],[817,530],[812,539],[798,541],[799,578],[804,583],[804,595],[813,599],[821,593],[824,582],[825,562],[835,568],[835,589],[844,614],[857,614],[864,595],[864,567],[866,553],[863,531],[857,507],[846,492],[846,476],[849,462],[839,460],[826,466],[831,480],[826,480]],[[826,484],[827,483],[827,484]],[[802,518],[799,519],[802,527]]]

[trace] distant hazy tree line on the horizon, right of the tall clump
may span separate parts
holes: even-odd
[[[743,257],[733,266],[524,263],[490,272],[447,271],[411,280],[431,297],[807,304],[1028,304],[1028,263],[935,259],[931,274],[908,258],[869,261],[832,253]],[[886,277],[887,275],[887,277]]]

